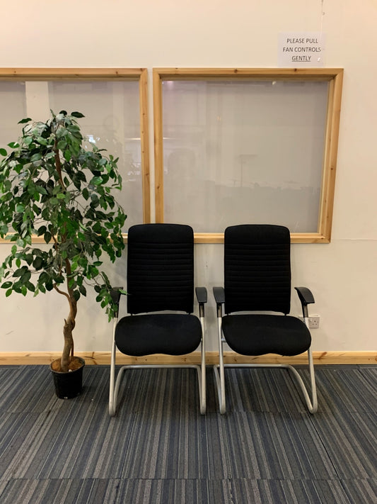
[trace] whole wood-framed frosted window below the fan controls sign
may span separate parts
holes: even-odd
[[[155,68],[157,222],[197,243],[228,225],[331,238],[343,69]]]

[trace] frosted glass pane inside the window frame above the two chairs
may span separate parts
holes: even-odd
[[[164,220],[318,230],[328,82],[164,81]]]

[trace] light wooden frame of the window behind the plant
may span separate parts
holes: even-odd
[[[0,68],[0,81],[138,81],[141,138],[141,197],[143,222],[151,222],[149,172],[148,71],[146,68]],[[127,240],[127,233],[124,233]],[[8,243],[7,240],[0,242]],[[43,242],[33,237],[33,242]]]

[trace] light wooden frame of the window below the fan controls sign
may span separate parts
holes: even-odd
[[[153,68],[153,128],[156,222],[163,222],[163,99],[165,80],[276,79],[329,82],[325,147],[318,228],[316,233],[291,233],[292,243],[329,243],[334,206],[337,146],[342,99],[343,69]],[[222,243],[224,233],[195,233],[196,243]]]

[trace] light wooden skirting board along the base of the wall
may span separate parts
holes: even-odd
[[[77,357],[83,357],[86,364],[110,364],[110,352],[76,352]],[[20,364],[50,364],[60,357],[59,352],[4,352],[0,353],[0,365]],[[218,362],[217,352],[207,352],[207,364]],[[377,352],[313,352],[314,364],[377,364]],[[146,357],[127,357],[117,354],[117,364],[199,364],[200,353],[194,352],[182,356],[149,355]],[[227,364],[306,364],[306,353],[294,357],[279,357],[267,354],[261,357],[245,357],[234,352],[225,352],[224,362]]]

